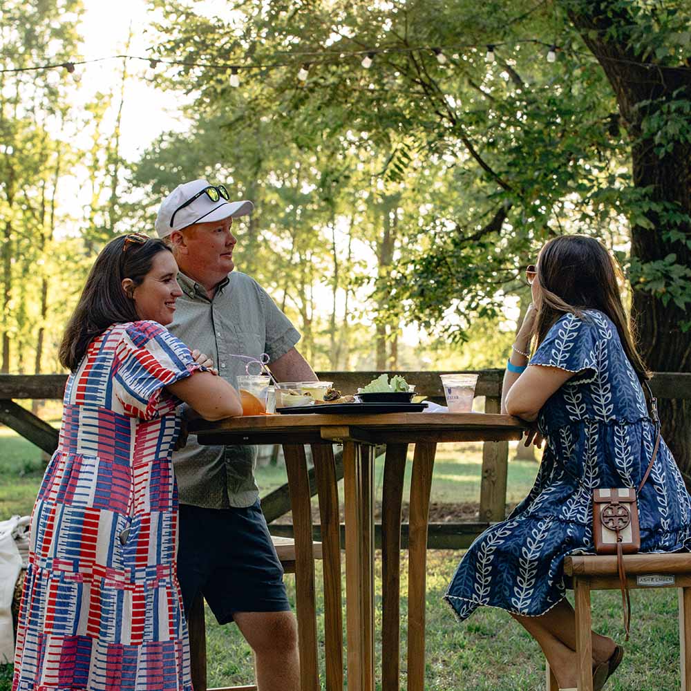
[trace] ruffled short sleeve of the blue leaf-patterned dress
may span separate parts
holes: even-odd
[[[598,374],[597,343],[598,330],[591,316],[580,319],[567,313],[552,325],[529,364],[578,372],[571,382],[585,384]]]

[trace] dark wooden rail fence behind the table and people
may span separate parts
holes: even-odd
[[[485,412],[498,413],[502,394],[504,370],[471,370],[478,375],[476,396],[485,397]],[[335,388],[351,393],[365,386],[381,372],[317,372],[322,381],[333,381]],[[430,401],[444,403],[444,390],[439,372],[388,372],[402,375],[415,390]],[[0,375],[0,424],[4,424],[46,453],[57,448],[58,430],[33,415],[15,401],[17,399],[61,399],[67,375]],[[691,399],[691,374],[680,372],[656,372],[651,388],[659,398]],[[480,481],[479,522],[457,524],[431,524],[430,547],[464,549],[473,536],[479,534],[490,522],[503,520],[506,512],[508,442],[484,442],[482,449],[482,478]],[[339,464],[342,476],[343,466]],[[313,471],[312,471],[313,472]],[[310,482],[312,495],[316,484]],[[290,496],[284,485],[262,500],[267,520],[271,522],[290,511]],[[274,524],[274,534],[290,534],[292,526]],[[405,528],[404,528],[405,533]]]

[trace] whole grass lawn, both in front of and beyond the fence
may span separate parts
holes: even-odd
[[[42,475],[41,453],[8,430],[0,428],[0,520],[19,513],[30,513]],[[436,504],[470,504],[480,497],[482,454],[471,444],[442,444],[432,487]],[[527,493],[537,471],[532,462],[509,464],[507,502],[515,504]],[[381,495],[384,464],[377,461],[375,486]],[[260,468],[258,480],[263,493],[285,482],[283,466]],[[406,494],[410,465],[406,473]],[[342,485],[342,483],[341,483]],[[342,497],[342,486],[340,488]],[[401,621],[406,621],[407,556],[402,562]],[[454,551],[428,554],[426,690],[451,691],[533,691],[544,689],[545,665],[538,645],[508,614],[498,609],[481,608],[465,623],[457,623],[442,602],[448,580],[462,556]],[[321,563],[316,562],[317,607],[321,599]],[[379,588],[377,573],[377,588]],[[294,602],[294,577],[286,576]],[[345,583],[343,584],[345,591]],[[676,591],[632,592],[634,616],[632,640],[608,691],[672,691],[679,688],[679,631],[676,622]],[[377,611],[381,616],[379,599]],[[623,640],[621,596],[616,592],[593,595],[596,629]],[[321,621],[319,622],[321,635]],[[345,635],[345,634],[344,634]],[[323,636],[321,637],[323,640]],[[377,646],[381,645],[377,641]],[[405,630],[401,650],[405,653]],[[379,648],[377,658],[381,654]],[[209,686],[240,685],[253,678],[252,654],[234,625],[219,626],[207,611],[207,657]],[[0,691],[10,689],[9,667],[0,665]],[[406,666],[401,661],[401,688],[406,685]],[[379,673],[378,673],[379,674]],[[323,676],[323,674],[322,674]]]

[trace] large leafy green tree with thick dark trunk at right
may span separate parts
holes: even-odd
[[[410,191],[392,269],[377,272],[372,296],[388,298],[380,323],[403,316],[462,340],[522,290],[521,269],[547,238],[580,231],[627,263],[650,367],[690,370],[686,3],[246,0],[228,3],[225,21],[186,1],[155,5],[162,55],[283,65],[241,70],[240,89],[223,70],[184,69],[196,108],[270,122],[317,162],[325,143],[332,157],[357,151],[359,171],[383,161],[369,180],[350,175],[340,198],[351,207],[373,190]],[[252,107],[238,113],[232,92],[245,89]],[[663,408],[683,468],[688,408]]]

